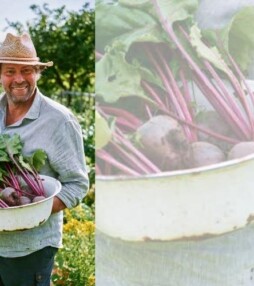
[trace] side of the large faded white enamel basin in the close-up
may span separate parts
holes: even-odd
[[[254,216],[254,154],[138,178],[96,180],[96,225],[123,240],[178,240],[230,232]]]

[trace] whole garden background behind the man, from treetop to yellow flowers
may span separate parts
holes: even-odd
[[[54,66],[43,72],[38,87],[77,117],[90,180],[90,189],[82,203],[64,212],[63,248],[55,259],[52,285],[94,286],[94,9],[89,3],[72,12],[65,6],[51,9],[46,3],[41,7],[32,5],[30,9],[35,18],[26,25],[8,19],[6,32],[8,28],[17,33],[28,31],[40,57],[53,59]]]

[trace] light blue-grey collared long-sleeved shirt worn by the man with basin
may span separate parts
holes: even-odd
[[[68,208],[80,203],[88,189],[88,176],[82,132],[73,114],[37,90],[34,102],[24,118],[6,126],[5,117],[6,96],[3,95],[0,98],[0,132],[19,134],[24,142],[25,155],[43,149],[48,158],[40,173],[61,182],[62,189],[57,197]],[[61,247],[62,226],[61,211],[52,214],[44,224],[33,229],[0,232],[0,256],[18,257],[45,246]]]

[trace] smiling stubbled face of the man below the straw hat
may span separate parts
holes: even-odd
[[[14,104],[26,102],[34,94],[38,73],[29,65],[2,64],[1,83],[8,100]]]

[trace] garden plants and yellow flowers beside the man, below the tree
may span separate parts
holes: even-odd
[[[58,98],[66,104],[66,98]],[[57,253],[52,275],[54,286],[95,285],[95,173],[94,96],[78,95],[70,107],[82,127],[90,189],[81,205],[65,210],[63,248]]]

